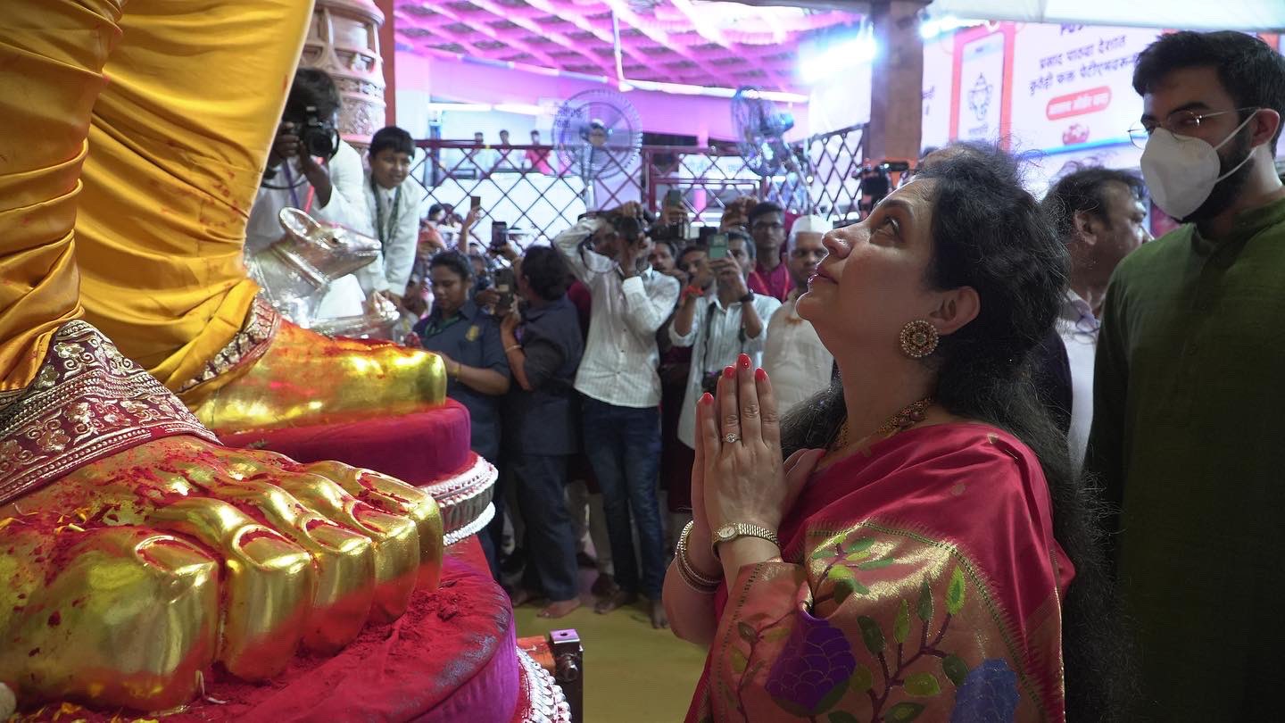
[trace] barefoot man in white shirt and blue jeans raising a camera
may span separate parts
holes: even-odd
[[[657,499],[660,377],[655,332],[673,310],[678,282],[648,265],[651,242],[644,233],[645,223],[641,207],[628,202],[580,220],[554,239],[554,247],[592,297],[576,390],[585,396],[585,446],[603,488],[621,588],[600,601],[596,611],[628,605],[641,592],[651,601],[651,625],[663,628],[668,621],[660,605],[666,549]],[[641,545],[641,578],[631,513]]]

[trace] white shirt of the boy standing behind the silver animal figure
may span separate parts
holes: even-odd
[[[368,295],[374,291],[391,291],[401,296],[406,293],[406,282],[410,280],[410,271],[415,266],[419,220],[427,214],[424,203],[428,201],[428,194],[412,178],[407,178],[397,188],[384,188],[371,184],[369,172],[362,189],[366,207],[370,208],[370,228],[374,230],[371,235],[379,239],[383,248],[378,259],[357,271],[357,280]],[[401,192],[400,201],[398,192]],[[394,205],[396,217],[389,217]],[[380,220],[384,226],[382,229]]]

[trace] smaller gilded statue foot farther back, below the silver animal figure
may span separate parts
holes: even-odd
[[[303,427],[438,407],[446,369],[436,354],[325,337],[256,301],[240,337],[179,395],[216,432]]]

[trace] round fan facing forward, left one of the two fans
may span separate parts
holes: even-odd
[[[592,194],[595,180],[628,171],[642,147],[642,118],[623,95],[595,89],[572,95],[554,116],[554,143],[562,167],[585,180]],[[586,197],[591,207],[591,198]]]

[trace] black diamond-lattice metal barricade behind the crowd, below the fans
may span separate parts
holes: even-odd
[[[644,145],[622,165],[614,156],[578,162],[550,145],[418,140],[423,153],[411,175],[434,203],[463,215],[477,196],[486,217],[544,239],[589,210],[637,201],[658,211],[669,190],[681,193],[694,225],[717,225],[727,203],[741,196],[842,223],[860,216],[864,138],[865,126],[857,125],[794,143],[793,162],[772,178],[747,169],[729,147]],[[601,171],[587,178],[589,166]]]

